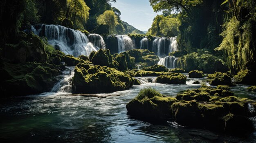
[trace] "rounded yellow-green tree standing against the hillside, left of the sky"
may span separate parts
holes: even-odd
[[[117,26],[117,15],[114,11],[105,11],[103,14],[99,15],[97,18],[98,24],[108,25],[110,28],[110,33],[115,32],[115,27]]]

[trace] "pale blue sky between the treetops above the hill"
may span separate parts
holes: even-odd
[[[147,31],[155,16],[162,14],[153,11],[149,0],[117,0],[116,3],[111,2],[111,4],[121,11],[121,20],[141,31]]]

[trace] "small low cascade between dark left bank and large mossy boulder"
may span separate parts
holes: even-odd
[[[61,79],[54,85],[51,92],[72,92],[72,78],[74,77],[74,67],[66,67]]]

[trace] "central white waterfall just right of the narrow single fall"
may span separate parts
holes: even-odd
[[[132,50],[135,48],[135,43],[129,36],[127,35],[114,35],[114,36],[117,37],[118,53]]]

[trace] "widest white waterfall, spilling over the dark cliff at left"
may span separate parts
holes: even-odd
[[[88,37],[81,31],[60,25],[45,24],[31,26],[31,30],[36,35],[47,37],[50,45],[68,55],[88,56],[92,51],[99,50],[89,42]]]

